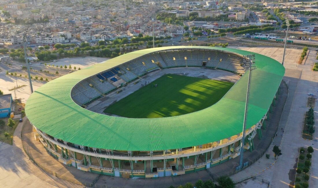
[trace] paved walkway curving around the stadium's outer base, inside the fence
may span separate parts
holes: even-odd
[[[280,113],[284,106],[285,99],[287,98],[287,88],[284,84],[281,84],[281,94],[279,95],[279,100],[277,100],[276,106],[273,107],[273,113],[270,114],[270,120],[266,121],[266,129],[262,130],[263,137],[259,141],[258,138],[254,139],[254,144],[256,150],[252,152],[246,151],[244,153],[245,161],[249,161],[251,164],[253,161],[257,160],[259,155],[263,153],[267,146],[269,145],[272,136],[276,131],[280,119]],[[276,125],[276,126],[275,126]],[[269,129],[270,128],[270,129]],[[198,171],[191,174],[185,174],[177,177],[162,177],[158,179],[126,179],[126,178],[117,178],[111,176],[100,176],[98,174],[78,171],[73,167],[68,167],[60,162],[58,162],[54,157],[49,155],[43,145],[40,142],[35,141],[32,126],[29,122],[26,123],[24,130],[22,132],[22,140],[24,147],[29,148],[29,154],[32,156],[34,161],[37,164],[40,164],[42,168],[45,168],[49,173],[55,174],[62,179],[67,179],[68,181],[83,184],[91,185],[96,187],[169,187],[170,185],[183,185],[186,182],[196,182],[198,179],[214,180],[221,175],[232,175],[235,171],[235,167],[238,165],[239,157],[231,159],[228,162],[219,164],[208,171]],[[43,157],[45,156],[45,157]],[[257,161],[259,163],[259,161]],[[259,168],[247,168],[242,171],[242,176],[237,176],[235,181],[245,178],[250,175],[255,175],[259,172],[259,169],[265,169],[269,163],[260,163]],[[250,174],[250,175],[249,175]],[[244,177],[243,177],[244,176]],[[97,180],[95,182],[95,180]]]

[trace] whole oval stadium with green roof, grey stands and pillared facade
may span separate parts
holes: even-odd
[[[47,152],[82,171],[157,178],[208,169],[240,154],[248,87],[243,64],[250,54],[206,46],[130,52],[46,83],[31,94],[25,113]],[[285,73],[264,55],[255,54],[255,65],[242,148],[250,151]],[[180,67],[238,79],[169,72]],[[89,110],[97,101],[111,102],[102,112]]]

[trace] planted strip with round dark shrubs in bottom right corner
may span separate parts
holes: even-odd
[[[307,150],[305,148],[300,148],[299,150],[295,188],[308,188],[311,166],[311,152],[309,152],[309,148],[310,147],[308,147]]]

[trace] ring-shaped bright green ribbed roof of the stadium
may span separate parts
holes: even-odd
[[[248,74],[209,108],[190,114],[135,119],[98,114],[77,105],[71,89],[79,81],[147,53],[174,49],[207,49],[249,55],[251,52],[219,47],[170,46],[130,52],[64,75],[39,87],[26,102],[30,122],[48,135],[66,142],[111,150],[166,150],[211,143],[242,132]],[[255,54],[247,126],[268,111],[284,76],[276,60]]]

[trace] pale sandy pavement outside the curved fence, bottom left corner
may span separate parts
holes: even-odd
[[[0,144],[1,187],[72,187],[69,182],[41,171],[29,160],[21,142],[23,123],[19,123],[14,131],[12,146],[6,143]]]

